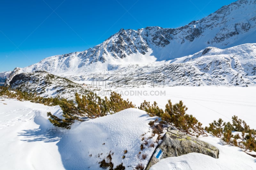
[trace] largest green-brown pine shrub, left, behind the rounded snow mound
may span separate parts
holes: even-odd
[[[76,103],[65,99],[60,100],[59,105],[63,110],[62,116],[65,119],[59,119],[51,113],[48,113],[50,122],[55,126],[69,129],[75,120],[84,121],[84,118],[94,119],[119,112],[126,108],[135,107],[132,102],[128,99],[124,100],[121,95],[116,92],[111,92],[110,99],[107,97],[102,99],[93,92],[88,92],[86,95],[82,96],[76,93],[75,97]]]

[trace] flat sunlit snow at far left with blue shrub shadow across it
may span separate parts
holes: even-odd
[[[29,101],[0,98],[1,169],[64,169],[56,143],[59,137],[47,128],[46,112],[59,113]]]

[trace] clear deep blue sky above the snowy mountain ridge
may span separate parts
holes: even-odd
[[[235,0],[1,0],[0,72],[83,51],[124,29],[176,28]]]

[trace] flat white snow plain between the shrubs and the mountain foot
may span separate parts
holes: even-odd
[[[156,101],[158,106],[164,109],[168,99],[171,99],[172,104],[182,100],[184,105],[188,107],[186,113],[195,116],[199,122],[203,123],[203,126],[208,126],[213,120],[219,118],[225,122],[231,122],[232,116],[236,115],[251,128],[256,129],[255,87],[167,86],[153,88],[145,86],[145,88],[117,88],[111,90],[119,92],[123,99],[128,98],[137,107],[146,100],[152,104]],[[98,93],[101,95],[110,94],[108,91]]]

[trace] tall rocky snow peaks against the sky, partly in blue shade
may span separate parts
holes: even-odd
[[[151,26],[138,30],[121,29],[93,48],[48,57],[24,71],[83,73],[92,69],[86,69],[92,63],[106,63],[104,69],[111,70],[112,65],[170,60],[192,55],[209,46],[223,49],[255,43],[255,39],[256,1],[239,0],[178,28]]]

